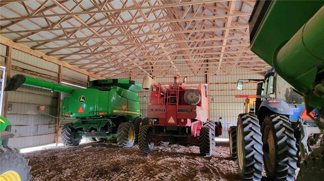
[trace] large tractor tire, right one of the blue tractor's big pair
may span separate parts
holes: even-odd
[[[266,175],[274,180],[294,180],[297,148],[289,119],[279,114],[266,116],[263,120],[262,142]]]

